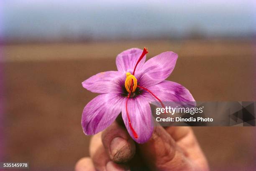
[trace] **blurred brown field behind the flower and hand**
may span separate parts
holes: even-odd
[[[88,156],[90,137],[82,132],[81,114],[97,96],[81,82],[116,70],[121,51],[144,46],[148,58],[168,50],[178,53],[169,80],[184,85],[197,101],[255,100],[255,58],[248,40],[5,45],[5,161],[28,161],[32,170],[72,170]],[[255,128],[194,129],[212,170],[255,166]]]

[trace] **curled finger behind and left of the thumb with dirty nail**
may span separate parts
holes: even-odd
[[[125,165],[120,165],[113,163],[111,161],[105,147],[102,144],[101,134],[98,133],[92,137],[90,142],[90,156],[92,162],[97,171],[125,171],[128,167]]]

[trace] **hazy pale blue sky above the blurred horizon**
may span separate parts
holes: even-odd
[[[244,34],[256,31],[255,9],[256,0],[0,0],[0,34],[137,36],[195,27],[207,34]]]

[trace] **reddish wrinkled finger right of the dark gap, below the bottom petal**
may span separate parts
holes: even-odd
[[[139,144],[141,156],[153,170],[191,170],[192,164],[167,131],[156,126],[148,142]]]

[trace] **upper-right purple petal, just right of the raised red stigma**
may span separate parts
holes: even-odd
[[[143,87],[156,85],[165,80],[174,69],[178,55],[173,52],[164,52],[146,61],[140,70],[138,82]]]

